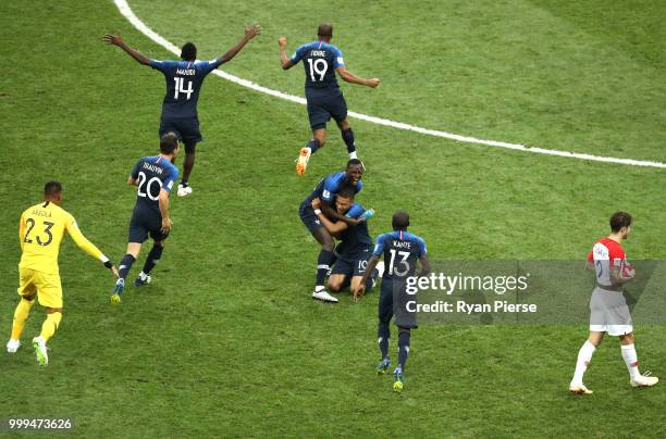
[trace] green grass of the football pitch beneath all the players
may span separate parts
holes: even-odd
[[[666,7],[655,1],[511,0],[314,3],[133,0],[137,15],[200,58],[243,26],[263,35],[225,66],[301,95],[288,49],[335,25],[347,67],[378,89],[343,85],[349,109],[479,138],[666,161]],[[101,36],[122,33],[172,58],[110,1],[3,1],[0,67],[0,329],[17,301],[18,216],[60,179],[64,208],[119,261],[135,161],[157,149],[161,74]],[[305,106],[211,76],[199,101],[206,141],[172,200],[175,223],[153,284],[112,308],[110,275],[71,240],[61,250],[65,310],[38,368],[29,337],[0,354],[0,417],[69,416],[83,437],[663,437],[666,393],[632,390],[616,340],[566,389],[580,326],[424,326],[402,394],[378,378],[377,291],[359,304],[310,299],[317,246],[297,216],[319,178],[342,168],[336,129],[297,177]],[[664,171],[492,149],[351,120],[368,172],[358,201],[373,236],[400,208],[432,260],[581,259],[610,213],[636,225],[630,259],[664,259]],[[177,162],[182,164],[182,159]],[[141,256],[147,253],[146,247]],[[140,269],[139,259],[133,275]],[[132,275],[131,275],[132,278]],[[589,294],[589,291],[581,291]],[[394,329],[395,335],[395,329]],[[4,341],[3,341],[4,342]],[[664,326],[637,326],[643,367],[664,375]],[[392,340],[395,356],[395,337]]]

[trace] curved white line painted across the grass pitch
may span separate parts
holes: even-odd
[[[125,16],[125,18],[127,18],[127,21],[130,21],[130,23],[132,23],[132,25],[136,27],[141,34],[144,34],[145,36],[147,36],[148,38],[150,38],[158,45],[162,46],[164,49],[169,50],[170,52],[176,55],[180,54],[181,52],[180,48],[173,45],[171,41],[168,41],[164,37],[159,35],[158,33],[152,30],[150,27],[148,27],[144,22],[141,22],[140,18],[134,14],[132,9],[130,8],[130,4],[127,4],[126,0],[113,0],[113,1],[115,5],[118,7],[119,11],[121,12],[121,14],[123,14],[123,16]],[[287,101],[306,104],[306,100],[304,98],[293,96],[293,95],[287,95],[282,91],[273,90],[271,88],[262,87],[250,80],[239,78],[237,76],[234,76],[232,74],[229,74],[220,70],[215,70],[213,71],[213,73],[224,79],[231,80],[232,83],[238,84],[243,87],[247,87],[252,90],[260,91],[267,95],[271,95],[276,98],[287,100]],[[536,154],[557,155],[557,156],[563,156],[563,158],[589,160],[589,161],[594,161],[594,162],[618,163],[618,164],[624,164],[624,165],[629,165],[629,166],[666,168],[666,163],[662,163],[662,162],[652,162],[652,161],[633,160],[633,159],[618,159],[618,158],[612,158],[612,156],[584,154],[584,153],[579,153],[579,152],[568,152],[568,151],[559,151],[559,150],[553,150],[553,149],[526,147],[525,145],[507,143],[504,141],[495,141],[495,140],[477,139],[474,137],[460,136],[457,134],[440,131],[436,129],[422,128],[420,126],[410,125],[410,124],[406,124],[403,122],[394,122],[394,121],[390,121],[390,120],[382,118],[382,117],[356,113],[353,111],[350,111],[348,114],[351,117],[372,122],[374,124],[390,126],[390,127],[397,128],[397,129],[404,129],[407,131],[419,133],[419,134],[423,134],[428,136],[443,137],[446,139],[457,140],[457,141],[461,141],[466,143],[485,145],[488,147],[506,148],[506,149],[513,149],[517,151],[532,152]]]

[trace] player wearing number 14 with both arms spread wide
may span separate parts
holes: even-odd
[[[197,61],[197,47],[192,42],[183,46],[182,61],[151,60],[127,46],[120,35],[104,35],[103,39],[107,43],[120,47],[139,64],[149,65],[164,74],[166,95],[162,102],[160,138],[166,133],[176,133],[178,140],[185,145],[185,161],[183,162],[183,178],[177,190],[178,197],[192,193],[188,180],[195,163],[196,146],[203,140],[199,131],[197,114],[199,90],[203,79],[210,72],[231,61],[249,40],[259,34],[261,34],[261,27],[258,25],[246,27],[245,35],[236,46],[212,61]]]

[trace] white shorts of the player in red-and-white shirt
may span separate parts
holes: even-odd
[[[629,306],[620,291],[594,288],[590,299],[590,330],[609,336],[633,333]]]

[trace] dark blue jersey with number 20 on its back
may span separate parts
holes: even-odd
[[[132,178],[137,183],[136,205],[160,211],[160,190],[171,192],[178,170],[169,160],[157,156],[141,158],[132,170]]]

